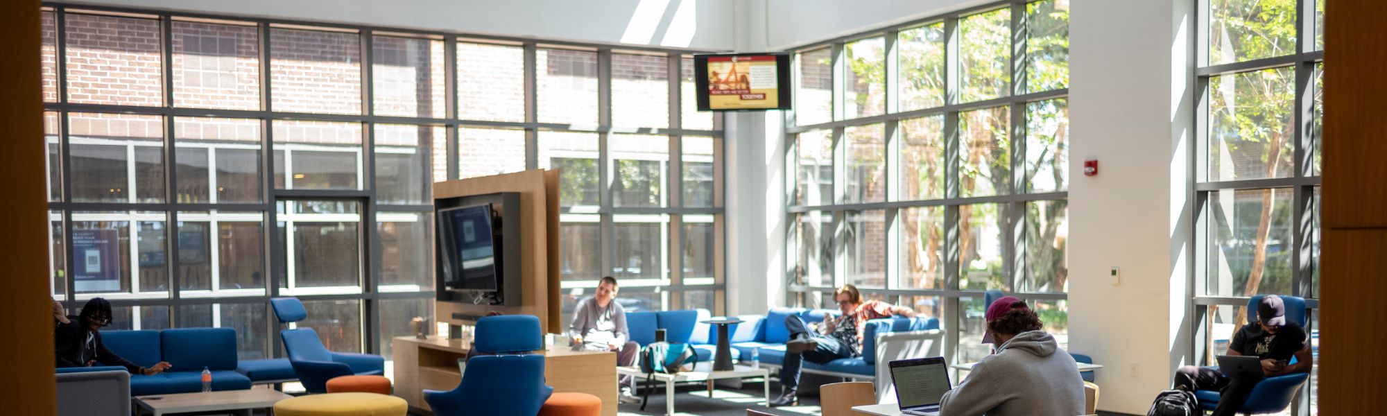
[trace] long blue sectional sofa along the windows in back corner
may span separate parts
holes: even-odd
[[[763,367],[778,369],[785,362],[785,343],[789,330],[785,318],[799,315],[804,322],[821,322],[829,309],[774,308],[766,315],[741,315],[742,323],[728,327],[732,359],[750,359],[752,349],[759,349]],[[626,323],[631,341],[645,347],[655,343],[655,330],[666,330],[666,341],[688,343],[699,351],[699,361],[713,359],[717,345],[717,327],[702,323],[709,320],[707,309],[685,309],[664,312],[627,312]],[[845,379],[890,380],[885,366],[903,358],[939,356],[943,348],[943,331],[936,318],[886,318],[867,322],[863,334],[863,356],[843,358],[829,363],[804,362],[804,373],[827,374]],[[877,383],[877,397],[893,395],[890,383]]]

